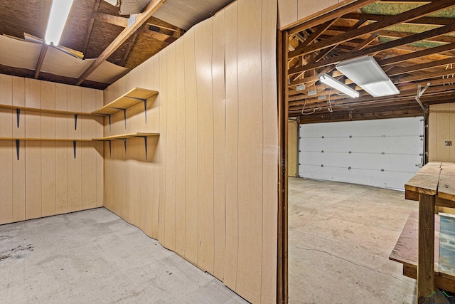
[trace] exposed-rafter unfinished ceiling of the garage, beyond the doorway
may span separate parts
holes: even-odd
[[[289,117],[301,123],[423,115],[455,101],[455,1],[355,1],[291,28],[287,41]],[[373,98],[336,70],[373,56],[400,94]],[[360,93],[324,85],[327,73]],[[427,90],[419,96],[417,89]]]

